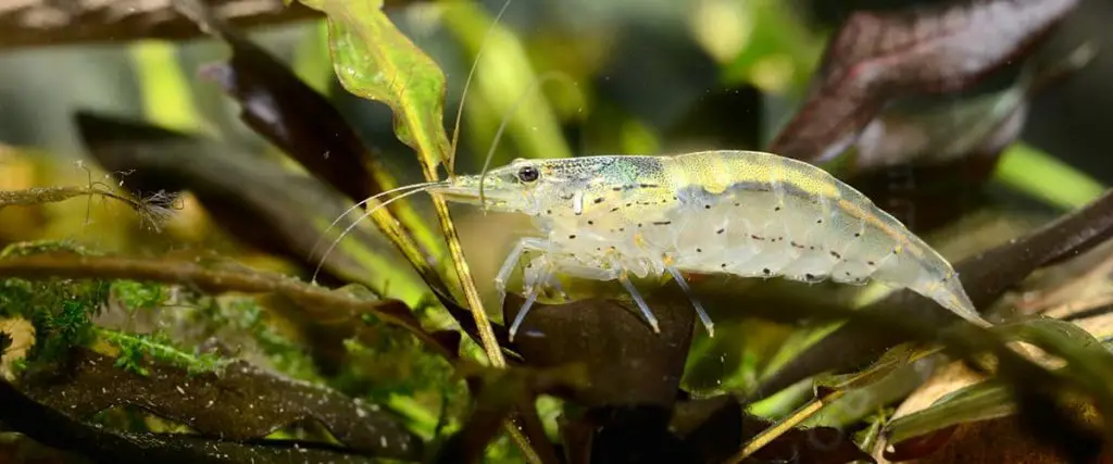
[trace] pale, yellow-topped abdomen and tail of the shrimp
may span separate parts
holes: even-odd
[[[673,185],[688,199],[671,219],[688,221],[689,231],[696,225],[676,244],[686,268],[804,282],[878,280],[986,324],[946,259],[823,169],[758,151],[681,155],[672,165]]]

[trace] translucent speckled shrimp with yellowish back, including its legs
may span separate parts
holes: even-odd
[[[659,332],[632,277],[668,273],[708,332],[683,274],[730,274],[909,288],[986,326],[951,264],[866,196],[823,169],[758,151],[519,159],[485,176],[430,186],[447,200],[532,216],[495,278],[501,296],[526,253],[525,304],[565,275],[619,280]]]

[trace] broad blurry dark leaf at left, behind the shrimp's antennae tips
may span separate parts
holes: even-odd
[[[308,269],[317,266],[326,249],[318,246],[322,230],[314,223],[328,224],[347,209],[343,198],[314,179],[213,140],[83,111],[75,119],[89,155],[124,188],[139,197],[189,190],[234,237]],[[348,224],[341,221],[337,227]],[[388,247],[388,241],[362,228],[347,240],[370,249]],[[342,253],[331,254],[323,269],[345,282],[376,285],[367,282],[366,268]]]

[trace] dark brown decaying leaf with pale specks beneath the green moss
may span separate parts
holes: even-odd
[[[78,351],[67,372],[28,376],[22,388],[76,419],[129,405],[187,424],[201,435],[244,442],[312,418],[367,455],[414,458],[422,453],[421,438],[376,406],[244,362],[198,375],[155,363],[145,368],[149,375],[141,376],[116,367],[111,357]]]

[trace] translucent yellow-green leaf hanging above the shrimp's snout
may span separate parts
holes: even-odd
[[[344,88],[394,111],[398,139],[451,172],[444,131],[445,78],[432,58],[397,30],[382,0],[302,0],[328,17],[328,47]]]

